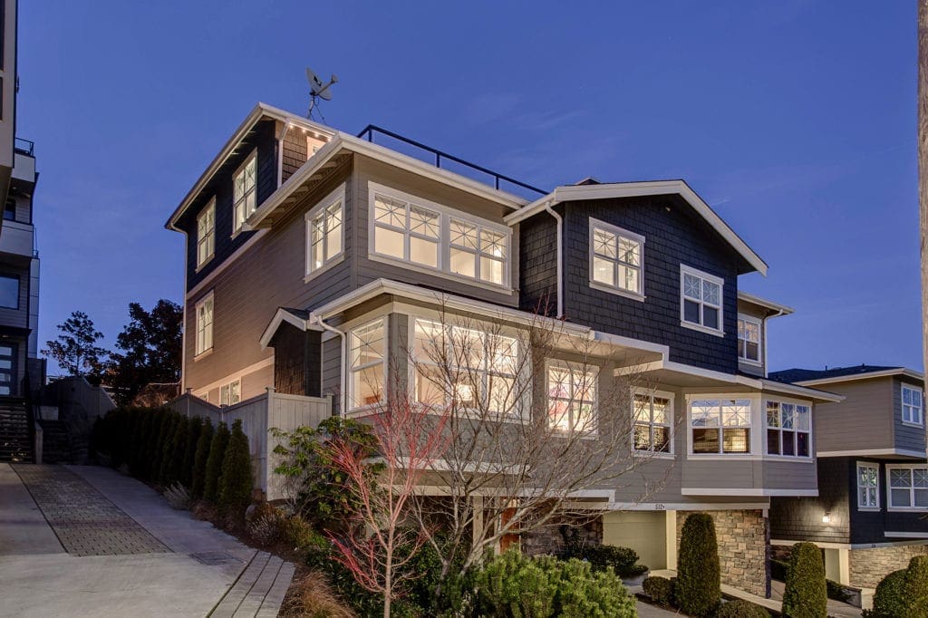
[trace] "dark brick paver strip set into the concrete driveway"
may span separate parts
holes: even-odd
[[[84,479],[60,466],[13,466],[68,553],[170,553],[161,541]]]

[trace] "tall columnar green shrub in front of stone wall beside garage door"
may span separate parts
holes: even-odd
[[[674,598],[692,616],[710,615],[722,599],[715,521],[707,513],[693,513],[683,523]]]

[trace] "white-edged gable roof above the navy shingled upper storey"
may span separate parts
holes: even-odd
[[[545,197],[533,201],[516,212],[511,212],[505,217],[505,221],[509,225],[517,224],[545,210],[546,207],[563,201],[609,200],[612,198],[634,198],[649,195],[678,195],[683,200],[686,200],[706,223],[712,226],[722,238],[725,238],[732,249],[737,251],[748,264],[751,264],[754,270],[761,275],[767,276],[767,263],[753,249],[748,247],[747,243],[683,180],[654,180],[557,187]]]

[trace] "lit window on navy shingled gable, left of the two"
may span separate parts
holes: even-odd
[[[641,296],[644,237],[596,219],[589,220],[589,234],[590,284]]]

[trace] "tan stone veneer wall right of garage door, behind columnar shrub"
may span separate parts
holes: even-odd
[[[683,523],[690,513],[677,512],[677,552]],[[715,521],[722,583],[759,597],[770,596],[769,526],[762,510],[707,510]]]

